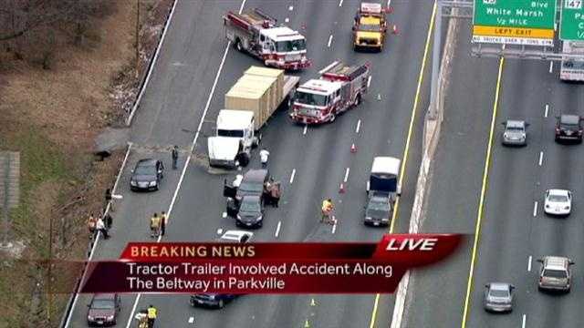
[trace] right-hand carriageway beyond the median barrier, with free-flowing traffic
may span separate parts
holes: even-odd
[[[561,83],[558,63],[548,61],[507,59],[498,78],[498,59],[468,55],[469,31],[468,24],[461,29],[454,58],[422,231],[457,231],[470,238],[464,251],[453,258],[412,274],[404,326],[438,322],[463,328],[579,326],[583,320],[579,311],[583,297],[579,216],[584,190],[578,160],[584,149],[555,143],[553,128],[559,113],[582,114],[584,87]],[[531,124],[526,148],[501,146],[501,123],[507,118]],[[486,172],[485,162],[489,164]],[[549,188],[574,193],[574,209],[568,218],[543,213],[543,195]],[[572,292],[537,291],[536,260],[545,255],[576,261]],[[472,288],[467,297],[473,256]],[[513,313],[485,313],[484,285],[495,281],[516,285]]]

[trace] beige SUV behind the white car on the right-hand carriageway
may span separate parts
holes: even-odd
[[[541,263],[537,286],[540,290],[569,292],[571,282],[569,268],[574,261],[563,256],[545,256],[537,261]]]

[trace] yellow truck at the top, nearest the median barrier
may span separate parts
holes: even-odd
[[[386,11],[381,4],[361,3],[353,24],[353,49],[383,49],[387,32]]]

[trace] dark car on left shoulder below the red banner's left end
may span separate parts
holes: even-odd
[[[120,296],[117,293],[94,294],[88,308],[89,326],[115,325],[121,308]]]

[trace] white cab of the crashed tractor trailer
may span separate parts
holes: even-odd
[[[215,136],[207,139],[209,164],[227,168],[247,165],[251,149],[258,143],[254,112],[222,109],[216,124]]]

